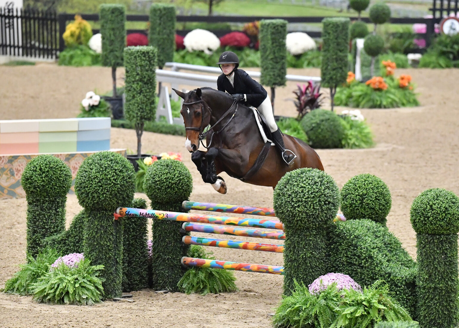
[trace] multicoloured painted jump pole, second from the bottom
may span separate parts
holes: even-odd
[[[263,252],[283,253],[284,245],[268,244],[268,243],[253,243],[241,242],[237,240],[215,239],[183,236],[182,242],[186,245],[213,246],[233,249],[260,250]]]

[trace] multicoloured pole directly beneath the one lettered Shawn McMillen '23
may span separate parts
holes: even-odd
[[[281,230],[246,229],[246,228],[236,228],[232,226],[214,226],[212,224],[193,223],[193,222],[185,222],[182,225],[182,229],[185,230],[186,232],[215,233],[218,235],[255,237],[255,238],[278,239],[278,240],[285,239],[285,234]]]

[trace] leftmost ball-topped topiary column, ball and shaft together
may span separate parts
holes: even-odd
[[[35,257],[43,239],[65,230],[65,203],[72,172],[52,155],[39,155],[26,165],[21,185],[27,199],[27,256]]]

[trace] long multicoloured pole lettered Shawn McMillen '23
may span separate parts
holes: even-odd
[[[153,219],[159,219],[159,220],[170,220],[170,221],[212,223],[212,224],[220,224],[220,225],[228,225],[228,226],[250,226],[254,228],[267,228],[267,229],[278,229],[278,230],[284,229],[284,226],[280,221],[248,219],[248,218],[229,217],[229,216],[204,215],[204,214],[167,212],[167,211],[157,211],[154,209],[134,209],[130,207],[118,207],[117,214],[121,217],[137,216],[137,217],[146,217],[146,218],[153,218]]]

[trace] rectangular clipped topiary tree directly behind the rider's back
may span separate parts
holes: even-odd
[[[260,83],[271,88],[274,111],[275,87],[285,85],[287,74],[287,21],[263,19],[260,21]]]

